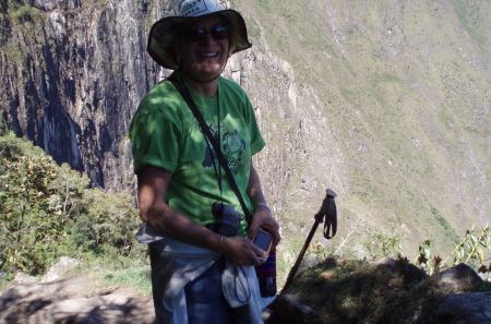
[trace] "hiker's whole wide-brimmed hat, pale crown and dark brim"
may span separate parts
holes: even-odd
[[[177,24],[211,14],[219,14],[230,24],[231,43],[235,45],[231,53],[252,46],[249,43],[246,22],[239,12],[224,9],[218,0],[173,0],[169,7],[169,15],[156,22],[151,28],[147,46],[149,56],[166,69],[178,69],[179,64],[170,50],[172,45],[166,36]]]

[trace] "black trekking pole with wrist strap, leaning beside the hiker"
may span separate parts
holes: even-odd
[[[307,237],[306,243],[303,244],[302,250],[300,251],[300,254],[297,257],[297,262],[295,262],[294,267],[290,269],[290,273],[288,274],[287,280],[285,283],[285,286],[283,287],[283,291],[285,291],[294,280],[295,274],[297,273],[298,267],[300,266],[300,263],[303,259],[303,255],[306,254],[307,249],[309,248],[310,241],[312,241],[312,238],[315,233],[315,230],[318,229],[319,224],[324,221],[325,217],[325,224],[324,224],[324,238],[331,239],[336,235],[337,230],[337,216],[336,216],[336,203],[334,202],[334,197],[337,195],[334,191],[331,189],[325,190],[325,199],[322,202],[321,209],[315,214],[314,216],[314,224],[312,228],[310,229],[309,236]],[[332,230],[332,235],[330,233]]]

